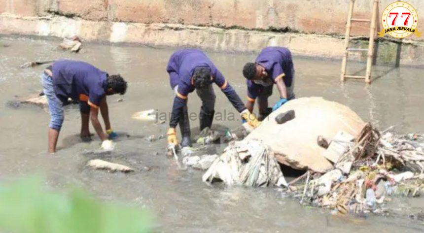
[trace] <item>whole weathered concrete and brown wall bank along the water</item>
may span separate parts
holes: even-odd
[[[380,11],[391,0],[380,1]],[[418,12],[424,1],[410,0]],[[72,36],[84,40],[257,51],[267,45],[294,54],[341,58],[349,1],[339,0],[0,0],[0,33]],[[357,0],[357,18],[372,2]],[[419,28],[421,28],[419,26]],[[367,24],[355,24],[356,47],[366,47]],[[424,40],[380,40],[383,63],[422,65]],[[354,54],[363,60],[366,54]]]

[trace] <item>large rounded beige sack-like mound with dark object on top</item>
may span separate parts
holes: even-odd
[[[293,109],[296,117],[277,124],[275,117]],[[245,140],[259,139],[275,153],[277,160],[296,169],[325,172],[332,169],[324,158],[324,148],[318,146],[317,137],[333,138],[345,131],[357,136],[365,123],[349,107],[318,97],[290,100],[271,113]]]

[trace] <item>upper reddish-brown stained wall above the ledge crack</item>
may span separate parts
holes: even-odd
[[[380,0],[379,11],[393,1]],[[415,6],[419,15],[424,15],[424,0],[406,1]],[[344,35],[349,2],[350,0],[0,0],[0,13],[8,12],[17,16],[56,13],[94,21],[178,23]],[[370,18],[373,0],[355,2],[354,17]],[[421,21],[424,22],[422,17],[424,16],[421,16]],[[423,25],[424,23],[419,24],[421,31],[424,31]],[[354,23],[352,35],[368,36],[369,24]],[[409,38],[418,39],[415,36]]]

